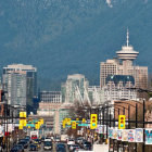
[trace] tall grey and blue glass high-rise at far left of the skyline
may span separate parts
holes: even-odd
[[[12,64],[3,67],[3,90],[9,104],[33,105],[37,96],[37,68],[31,65]]]

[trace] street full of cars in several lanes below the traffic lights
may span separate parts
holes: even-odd
[[[80,152],[91,150],[92,144],[84,139],[84,137],[78,137],[76,139],[67,137],[63,141],[60,137],[36,137],[35,139],[31,139],[30,136],[26,136],[25,138],[20,139],[16,143],[14,143],[10,152]]]

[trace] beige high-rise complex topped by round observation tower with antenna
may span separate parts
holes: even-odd
[[[129,45],[129,33],[127,30],[127,45],[116,52],[117,59],[106,60],[100,64],[100,87],[105,86],[105,79],[109,75],[130,75],[135,78],[137,88],[148,87],[148,66],[136,66],[134,60],[139,52]]]

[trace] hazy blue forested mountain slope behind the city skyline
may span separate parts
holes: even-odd
[[[59,88],[74,73],[99,85],[100,62],[115,56],[129,28],[130,45],[139,51],[136,64],[152,72],[150,1],[117,1],[113,8],[105,0],[5,1],[0,1],[0,68],[31,64],[43,89]]]

